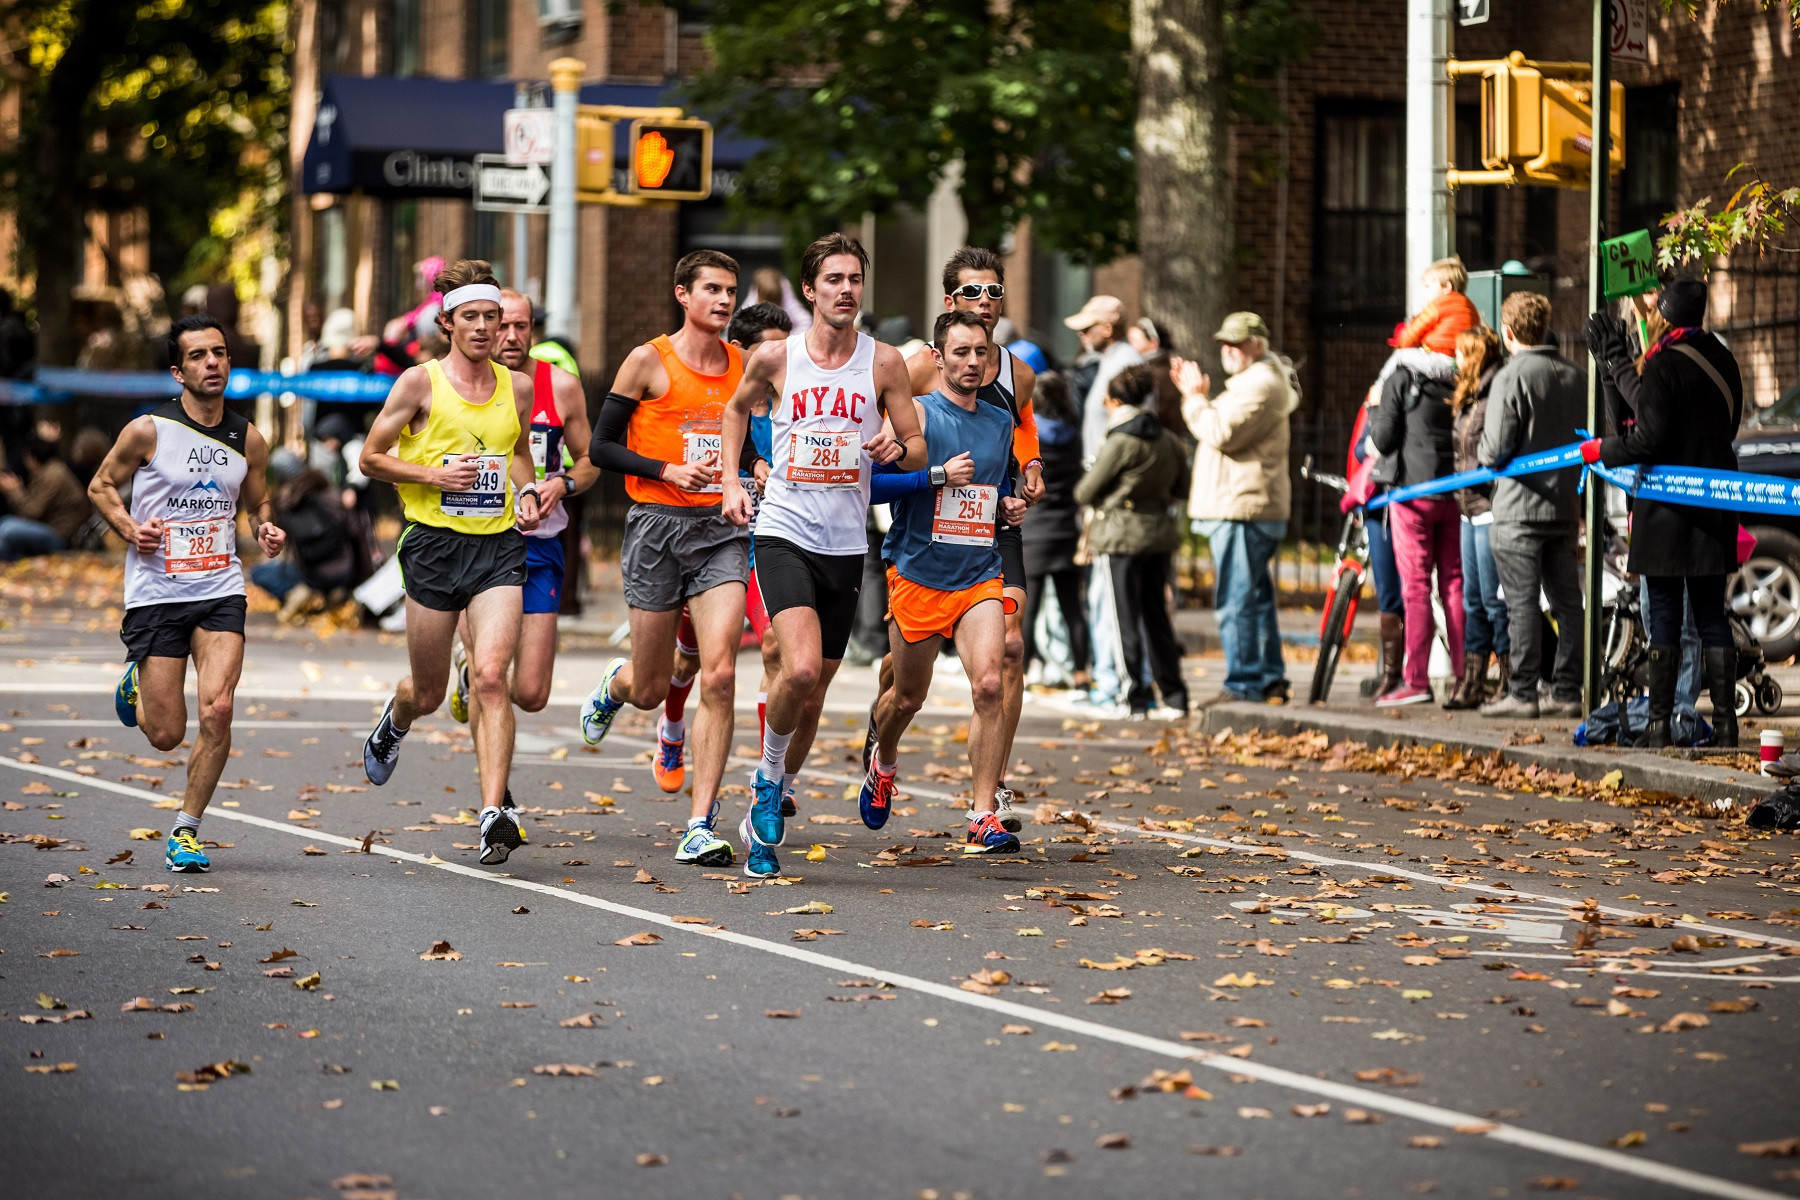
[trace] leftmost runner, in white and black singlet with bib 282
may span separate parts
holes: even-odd
[[[200,736],[187,756],[182,811],[169,833],[169,871],[207,871],[200,844],[220,772],[230,754],[232,696],[243,671],[243,563],[238,513],[263,554],[275,558],[286,534],[268,520],[268,443],[225,408],[230,358],[211,317],[184,317],[169,331],[169,371],[178,399],[124,426],[88,484],[94,507],[126,542],[124,678],[113,691],[119,720],[137,725],[158,750],[187,736],[187,658],[200,691]],[[131,486],[131,507],[119,495]]]

